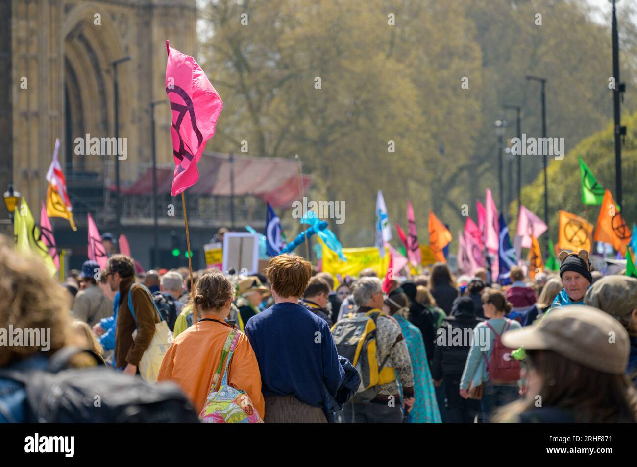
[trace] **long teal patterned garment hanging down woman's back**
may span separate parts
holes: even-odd
[[[422,341],[422,333],[420,333],[419,328],[403,316],[395,314],[393,317],[396,318],[403,330],[409,356],[412,359],[415,401],[412,411],[408,414],[407,422],[442,423],[440,412],[438,412],[438,402],[436,401],[436,389],[431,378],[431,372],[429,372],[429,363],[427,363],[427,352]],[[403,388],[401,387],[401,396],[402,394]]]

